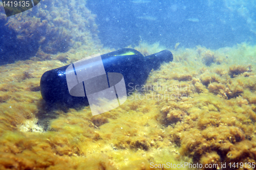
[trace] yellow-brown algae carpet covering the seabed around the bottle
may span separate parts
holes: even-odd
[[[144,53],[154,53],[146,48],[161,49],[157,44],[140,48]],[[154,169],[151,162],[255,162],[255,49],[247,44],[216,51],[179,47],[174,62],[151,72],[146,90],[96,116],[89,107],[46,108],[38,88],[45,71],[96,51],[3,65],[0,169]],[[63,61],[59,56],[68,57]],[[40,120],[48,114],[54,117],[45,120],[46,130]]]

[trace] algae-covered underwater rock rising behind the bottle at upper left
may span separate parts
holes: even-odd
[[[94,21],[96,15],[84,5],[73,8],[72,5],[76,3],[79,2],[54,3],[46,0],[35,8],[12,17],[6,17],[5,11],[1,10],[1,65],[32,57],[38,59],[41,52],[57,54],[81,45],[99,44]],[[2,6],[1,4],[0,9]],[[41,58],[45,59],[47,58]]]

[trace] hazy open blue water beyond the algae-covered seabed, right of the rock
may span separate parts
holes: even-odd
[[[88,1],[106,46],[159,41],[208,48],[255,43],[255,1]]]

